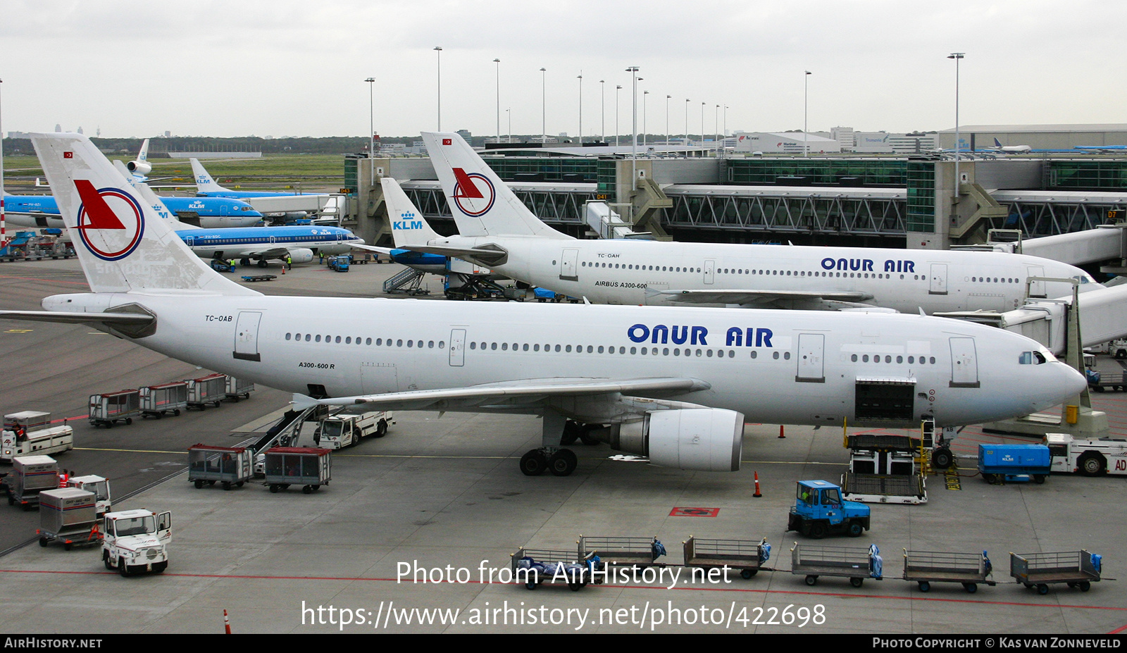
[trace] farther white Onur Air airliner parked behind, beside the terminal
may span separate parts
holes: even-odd
[[[459,236],[392,215],[396,246],[459,256],[494,272],[598,303],[719,305],[799,309],[881,307],[903,312],[1012,310],[1027,280],[1084,271],[995,252],[935,252],[651,240],[577,240],[541,222],[455,133],[425,132]],[[1063,297],[1071,283],[1035,281],[1032,297]]]

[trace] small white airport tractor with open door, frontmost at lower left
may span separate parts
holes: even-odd
[[[172,513],[151,510],[107,512],[101,527],[101,562],[123,576],[159,574],[168,568],[168,542],[172,540]]]

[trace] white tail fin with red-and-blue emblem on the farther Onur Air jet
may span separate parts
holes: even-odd
[[[459,233],[573,240],[533,215],[462,136],[452,132],[423,132],[423,140]]]

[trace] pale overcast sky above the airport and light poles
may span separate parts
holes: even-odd
[[[442,127],[650,133],[1127,123],[1121,0],[3,0],[2,130],[104,136],[367,134]],[[544,73],[540,72],[545,68]],[[543,77],[542,77],[543,76]],[[603,132],[600,80],[605,80]],[[542,89],[542,81],[543,89]],[[542,100],[544,90],[547,102]],[[720,111],[716,111],[720,105]],[[715,116],[719,113],[720,117]]]

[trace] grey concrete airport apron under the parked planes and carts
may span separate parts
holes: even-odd
[[[248,268],[252,273],[258,268]],[[398,265],[347,274],[299,265],[252,288],[272,294],[382,295]],[[240,268],[236,275],[245,274]],[[428,276],[432,297],[442,283]],[[5,308],[81,292],[74,261],[0,264]],[[452,310],[459,305],[452,303]],[[347,319],[347,316],[341,316]],[[38,634],[223,633],[819,633],[951,637],[960,634],[1100,635],[1127,629],[1121,565],[1124,477],[1054,475],[1044,485],[984,483],[979,442],[1032,442],[966,429],[952,448],[958,478],[928,478],[921,505],[872,505],[871,530],[824,540],[786,532],[795,483],[838,482],[848,467],[842,429],[748,423],[742,469],[710,474],[615,459],[605,444],[576,444],[568,477],[527,477],[520,457],[540,444],[533,416],[400,412],[383,439],[334,452],[332,477],[311,494],[272,494],[260,482],[196,489],[185,450],[230,445],[286,407],[259,386],[250,400],[160,421],[95,429],[87,396],[203,376],[198,370],[89,327],[0,324],[0,409],[72,417],[76,450],[57,457],[79,474],[110,478],[115,509],[171,511],[170,564],[160,575],[107,572],[97,548],[35,546],[35,512],[0,510],[0,632]],[[1100,356],[1104,369],[1118,361]],[[1112,435],[1127,433],[1127,395],[1093,395]],[[748,416],[753,420],[754,416]],[[880,432],[875,430],[850,430]],[[780,435],[784,435],[781,438]],[[0,473],[7,469],[0,469]],[[762,496],[755,497],[755,478]],[[125,497],[124,500],[122,497]],[[1116,517],[1119,515],[1119,517]],[[575,549],[580,536],[657,538],[667,554],[636,576],[571,591],[530,591],[506,576],[518,548]],[[765,570],[744,580],[690,577],[691,536],[772,545]],[[884,579],[808,585],[791,548],[877,545]],[[957,583],[921,592],[904,581],[903,550],[978,553],[995,586]],[[1009,554],[1104,556],[1091,591],[1051,585],[1045,595],[1009,574]]]

